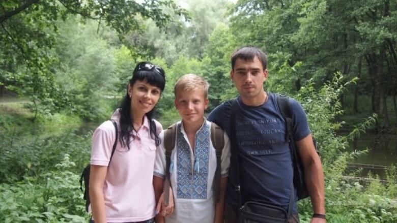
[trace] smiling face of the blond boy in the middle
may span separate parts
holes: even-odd
[[[208,108],[208,99],[204,97],[204,91],[201,89],[178,90],[175,108],[184,123],[203,122],[204,110]]]

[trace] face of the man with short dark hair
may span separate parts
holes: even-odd
[[[247,100],[253,100],[261,97],[263,82],[268,76],[267,70],[262,67],[261,60],[256,56],[252,60],[238,58],[230,77],[235,83],[241,97]]]

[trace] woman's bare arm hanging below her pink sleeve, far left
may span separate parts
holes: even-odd
[[[106,223],[105,202],[103,199],[103,184],[106,173],[106,166],[91,165],[89,193],[95,223]]]

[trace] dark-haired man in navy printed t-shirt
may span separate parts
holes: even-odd
[[[262,201],[288,210],[293,164],[289,143],[286,142],[286,123],[277,106],[276,95],[266,92],[263,83],[268,78],[267,58],[255,47],[242,47],[232,54],[230,77],[239,92],[236,126],[230,126],[233,100],[216,107],[208,120],[217,123],[230,136],[236,128],[243,203]],[[311,222],[326,222],[324,175],[315,150],[306,115],[301,105],[290,99],[293,137],[301,157],[305,182],[314,215]],[[232,153],[232,162],[233,162]],[[237,177],[233,165],[226,192],[225,222],[237,221],[237,192],[231,178]],[[296,191],[294,192],[296,198]],[[289,222],[299,222],[296,199]]]

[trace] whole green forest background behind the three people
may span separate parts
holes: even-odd
[[[91,134],[136,62],[165,70],[156,106],[165,128],[179,119],[173,86],[183,74],[209,81],[208,112],[236,97],[230,55],[244,45],[267,52],[265,89],[296,98],[308,115],[328,221],[397,221],[395,162],[382,177],[348,166],[371,151],[349,149],[365,132],[397,135],[389,0],[0,1],[0,221],[87,221],[78,180]],[[299,214],[309,222],[308,199]]]

